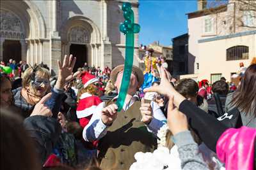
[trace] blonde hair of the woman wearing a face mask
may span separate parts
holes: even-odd
[[[47,78],[47,80],[50,80],[51,74],[50,72],[45,69],[44,67],[36,66],[35,68],[28,67],[26,71],[22,74],[22,87],[28,87],[31,82],[31,74],[33,73],[39,74],[40,76]]]

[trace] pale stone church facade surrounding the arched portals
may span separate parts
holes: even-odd
[[[132,6],[135,21],[138,23],[138,3]],[[18,15],[24,24],[26,37],[20,40],[22,60],[27,60],[29,64],[44,62],[56,71],[56,60],[63,58],[64,53],[69,53],[68,31],[76,24],[92,28],[91,41],[86,43],[89,49],[88,63],[100,67],[106,65],[113,67],[124,63],[125,35],[119,31],[120,22],[124,22],[120,0],[8,1],[1,8],[12,9],[10,11]],[[76,16],[81,16],[81,20]],[[54,24],[55,19],[56,24]],[[86,26],[86,23],[91,26]],[[65,33],[61,34],[61,32]],[[66,40],[63,40],[63,37]],[[3,41],[4,39],[1,38],[2,47]],[[134,45],[138,46],[138,34],[135,35]],[[134,55],[137,51],[135,50]],[[136,60],[134,64],[136,65]]]

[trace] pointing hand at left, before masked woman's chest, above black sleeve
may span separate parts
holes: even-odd
[[[48,101],[52,96],[52,93],[47,94],[46,96],[44,96],[36,105],[35,108],[33,110],[33,112],[31,113],[31,117],[35,116],[35,115],[40,115],[40,116],[44,116],[44,117],[52,117],[52,111],[45,106],[45,102]]]

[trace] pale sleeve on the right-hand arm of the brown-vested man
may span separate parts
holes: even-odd
[[[157,134],[157,131],[166,124],[167,120],[164,117],[163,111],[160,109],[157,103],[151,102],[151,107],[153,111],[153,118],[150,122],[150,124],[147,125],[147,129],[149,132],[153,132],[154,134]]]

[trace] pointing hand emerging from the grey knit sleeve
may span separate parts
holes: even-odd
[[[187,117],[178,108],[174,107],[173,96],[170,97],[168,103],[167,124],[173,135],[188,130]]]

